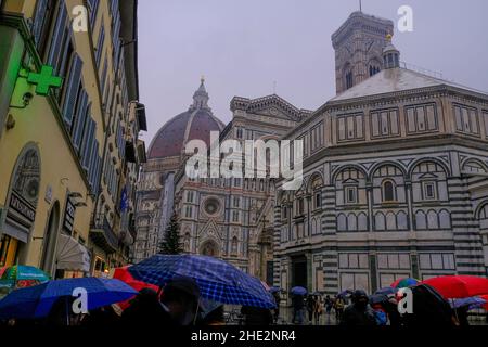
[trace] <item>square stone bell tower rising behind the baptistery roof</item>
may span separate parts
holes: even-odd
[[[332,35],[337,94],[384,68],[383,50],[393,30],[393,21],[358,11]]]

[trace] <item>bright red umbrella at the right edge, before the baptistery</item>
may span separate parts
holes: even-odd
[[[488,294],[488,279],[475,275],[440,275],[423,281],[447,299]]]

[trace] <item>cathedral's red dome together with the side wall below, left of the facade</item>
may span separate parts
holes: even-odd
[[[168,120],[151,142],[137,193],[138,235],[133,246],[133,262],[158,252],[174,211],[175,175],[183,166],[187,143],[203,140],[209,144],[210,131],[223,129],[223,124],[208,106],[208,99],[202,78],[190,107]]]

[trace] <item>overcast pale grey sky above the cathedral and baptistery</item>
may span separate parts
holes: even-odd
[[[413,33],[399,33],[397,10],[413,9]],[[273,92],[314,110],[335,94],[331,35],[359,0],[140,0],[140,99],[146,145],[192,102],[202,75],[214,114],[231,119],[234,95]],[[488,1],[362,0],[364,13],[395,23],[401,60],[488,91]]]

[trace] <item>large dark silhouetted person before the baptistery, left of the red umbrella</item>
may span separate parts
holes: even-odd
[[[351,295],[352,305],[349,305],[343,313],[341,325],[347,326],[374,326],[376,319],[369,305],[369,298],[364,291],[356,291]]]

